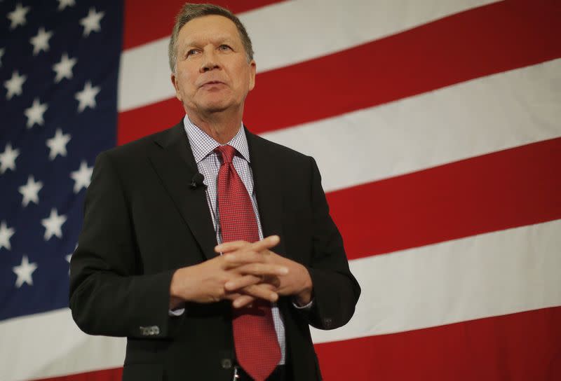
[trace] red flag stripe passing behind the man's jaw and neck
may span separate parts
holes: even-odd
[[[560,18],[556,1],[502,1],[267,71],[257,76],[244,122],[253,132],[276,130],[553,60],[561,57]],[[119,113],[119,144],[183,113],[175,98]]]

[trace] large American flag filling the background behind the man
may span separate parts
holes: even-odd
[[[67,309],[95,155],[175,125],[184,1],[0,1],[0,380],[119,380]],[[325,380],[561,380],[561,3],[216,1],[252,38],[244,123],[313,155],[356,314]],[[337,147],[337,149],[334,149]]]

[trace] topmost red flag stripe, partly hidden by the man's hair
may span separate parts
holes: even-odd
[[[283,0],[215,0],[212,1],[212,4],[228,8],[234,13],[241,13],[280,1]],[[186,2],[206,3],[208,1],[126,0],[123,49],[134,48],[143,43],[170,36],[175,15]]]

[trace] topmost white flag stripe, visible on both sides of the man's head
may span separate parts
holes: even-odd
[[[402,32],[494,0],[299,0],[241,13],[259,72],[321,57]],[[404,16],[405,15],[405,16]],[[290,32],[290,33],[289,33]],[[126,50],[119,70],[119,111],[175,96],[168,37]]]

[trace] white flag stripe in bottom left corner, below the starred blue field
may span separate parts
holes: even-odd
[[[0,322],[0,380],[23,381],[123,366],[126,340],[80,331],[64,308]]]

